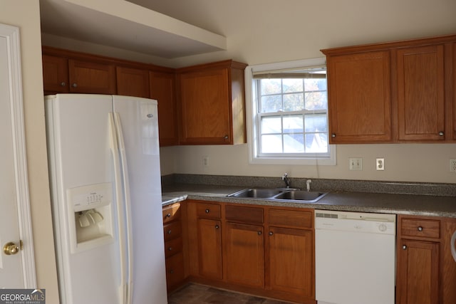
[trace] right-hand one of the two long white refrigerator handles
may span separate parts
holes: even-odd
[[[115,134],[117,135],[118,147],[120,151],[120,164],[123,177],[123,194],[124,194],[124,209],[126,221],[126,234],[127,234],[127,263],[128,263],[128,292],[127,303],[133,303],[133,228],[131,223],[131,200],[130,200],[130,182],[128,179],[128,162],[127,154],[125,153],[125,142],[123,140],[122,123],[120,122],[120,115],[114,112]]]

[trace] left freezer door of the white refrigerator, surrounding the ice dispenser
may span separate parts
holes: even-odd
[[[46,98],[53,225],[64,304],[120,303],[118,237],[110,243],[71,253],[68,236],[78,221],[66,195],[67,189],[113,182],[108,147],[111,111],[111,96],[68,94]],[[108,216],[115,219],[115,204],[111,210]],[[116,231],[115,221],[113,225]]]

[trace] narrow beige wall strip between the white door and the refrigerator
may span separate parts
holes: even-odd
[[[38,0],[1,0],[0,23],[19,27],[21,36],[28,187],[37,287],[46,288],[46,303],[56,304],[59,300],[48,185]]]

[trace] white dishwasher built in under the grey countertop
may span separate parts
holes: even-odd
[[[394,304],[395,231],[395,214],[315,210],[318,304]]]

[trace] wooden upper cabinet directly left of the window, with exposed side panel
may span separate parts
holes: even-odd
[[[244,68],[220,61],[177,70],[183,145],[246,142]]]

